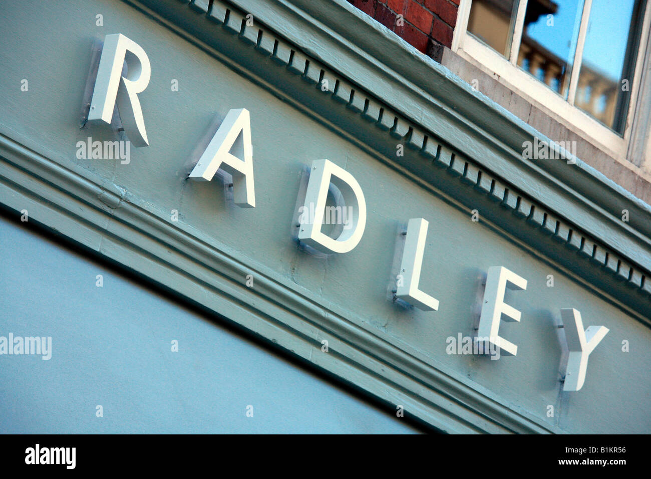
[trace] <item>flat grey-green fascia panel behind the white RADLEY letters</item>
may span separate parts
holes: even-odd
[[[607,291],[593,289],[486,222],[472,222],[453,199],[378,162],[124,3],[38,3],[38,14],[34,10],[10,3],[0,6],[0,31],[6,38],[0,46],[2,132],[61,164],[81,166],[117,184],[131,201],[161,218],[177,209],[179,228],[232,252],[253,269],[283,278],[352,324],[514,411],[573,433],[651,430],[646,409],[651,331],[607,297]],[[97,13],[104,15],[104,27],[96,27]],[[38,38],[31,31],[40,32]],[[95,36],[108,33],[130,36],[152,63],[152,80],[139,96],[150,147],[133,149],[128,165],[76,158],[77,141],[87,136],[114,139],[110,128],[79,130],[78,124],[90,48]],[[20,91],[22,78],[29,79],[29,92]],[[179,81],[178,92],[171,91],[173,79]],[[223,119],[230,108],[251,111],[256,209],[233,207],[219,184],[185,180],[197,143],[215,117]],[[361,184],[368,205],[367,229],[359,246],[328,259],[299,251],[289,232],[301,171],[318,158],[348,169]],[[386,297],[395,275],[391,265],[396,227],[419,216],[430,222],[421,289],[441,302],[438,312],[405,311]],[[527,291],[506,295],[507,302],[522,311],[521,323],[501,327],[503,336],[518,344],[518,356],[492,361],[447,355],[447,337],[473,333],[482,279],[493,265],[503,265],[529,281]],[[548,274],[555,277],[554,287],[546,286]],[[21,276],[22,281],[29,277]],[[75,290],[64,289],[61,294],[67,299],[59,299],[50,288],[33,291],[44,296],[46,304],[79,297]],[[580,310],[586,325],[610,328],[590,356],[585,386],[576,393],[562,392],[559,382],[562,345],[555,321],[559,308],[568,307]],[[118,334],[113,324],[118,320],[111,319],[105,328],[115,328]],[[174,334],[181,331],[179,327]],[[162,332],[155,334],[167,341]],[[622,340],[630,341],[629,353],[622,352]],[[555,416],[547,417],[548,405],[555,406]]]

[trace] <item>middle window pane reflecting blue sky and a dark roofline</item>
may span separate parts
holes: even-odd
[[[583,0],[529,0],[518,65],[567,98]]]

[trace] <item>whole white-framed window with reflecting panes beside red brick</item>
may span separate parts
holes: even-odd
[[[452,50],[626,157],[647,0],[462,0]],[[639,61],[638,61],[639,60]],[[646,106],[648,108],[649,106]]]

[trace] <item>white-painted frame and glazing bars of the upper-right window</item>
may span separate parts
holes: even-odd
[[[585,36],[587,33],[587,19],[590,14],[592,0],[585,0],[567,100],[555,93],[545,83],[519,68],[516,64],[519,48],[514,48],[514,46],[519,46],[519,42],[521,41],[527,1],[519,1],[515,30],[511,40],[510,58],[506,59],[503,55],[500,55],[473,35],[468,35],[468,18],[473,0],[461,0],[460,2],[451,50],[466,61],[480,68],[480,70],[493,76],[495,80],[503,83],[515,93],[529,100],[537,108],[542,109],[542,111],[545,111],[548,115],[559,121],[559,123],[566,126],[566,128],[569,128],[577,134],[581,134],[581,136],[589,139],[591,143],[596,143],[596,145],[599,145],[610,156],[613,156],[613,158],[618,160],[628,159],[628,147],[633,130],[631,126],[633,125],[635,111],[641,107],[636,104],[636,98],[640,87],[640,78],[644,70],[645,56],[649,54],[646,46],[649,30],[651,29],[651,1],[648,0],[646,2],[646,10],[643,14],[639,50],[637,51],[633,79],[629,85],[631,101],[628,104],[623,136],[616,134],[613,130],[592,118],[588,113],[574,106],[576,85],[581,69],[583,45],[585,44]],[[648,107],[648,105],[644,106],[644,108]],[[646,136],[648,136],[648,132],[646,132]],[[554,141],[560,140],[559,138],[551,139]],[[649,146],[651,149],[651,142]]]

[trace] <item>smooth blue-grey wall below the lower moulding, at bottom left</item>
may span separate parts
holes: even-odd
[[[0,336],[52,338],[49,360],[0,355],[0,433],[415,432],[4,218],[0,252]]]

